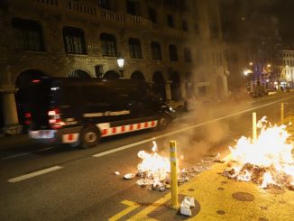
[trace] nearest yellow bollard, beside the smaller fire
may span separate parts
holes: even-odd
[[[170,189],[171,189],[171,207],[179,208],[178,200],[178,162],[177,162],[177,147],[175,141],[170,141]]]

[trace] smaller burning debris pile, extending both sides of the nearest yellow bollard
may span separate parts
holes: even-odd
[[[170,158],[161,156],[158,153],[157,144],[153,141],[152,153],[140,151],[138,152],[138,157],[142,159],[142,162],[137,166],[137,176],[140,177],[137,184],[141,187],[160,191],[170,189]],[[209,170],[209,168],[197,165],[189,169],[178,169],[179,184],[190,180],[204,170]]]

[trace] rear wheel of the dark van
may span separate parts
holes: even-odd
[[[94,147],[99,143],[100,134],[96,127],[94,126],[87,126],[84,128],[82,135],[81,135],[81,147],[82,148],[90,148]]]

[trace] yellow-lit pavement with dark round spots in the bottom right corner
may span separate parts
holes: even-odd
[[[192,216],[171,209],[169,193],[129,220],[293,220],[294,191],[261,189],[252,182],[229,180],[222,175],[226,166],[216,163],[179,186],[179,203],[184,197],[195,198]]]

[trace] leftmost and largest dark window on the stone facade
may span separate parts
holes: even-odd
[[[35,21],[14,18],[15,49],[23,51],[44,51],[41,25]]]

